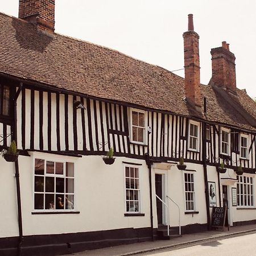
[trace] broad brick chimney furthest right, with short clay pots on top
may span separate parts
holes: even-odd
[[[212,83],[224,89],[236,91],[236,57],[229,51],[229,44],[213,48],[212,54]]]

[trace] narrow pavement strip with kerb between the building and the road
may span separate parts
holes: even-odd
[[[210,230],[206,232],[184,234],[172,240],[156,240],[148,242],[132,243],[129,245],[119,245],[105,247],[102,249],[82,251],[68,255],[79,256],[117,256],[117,255],[139,255],[150,253],[151,251],[163,249],[175,249],[175,247],[192,246],[197,243],[221,240],[232,236],[242,236],[247,233],[256,233],[256,224],[230,227],[229,230]],[[68,256],[66,255],[66,256]]]

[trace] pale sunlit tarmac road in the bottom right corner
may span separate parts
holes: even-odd
[[[181,249],[171,248],[139,255],[157,256],[256,256],[256,233],[200,242],[198,245]]]

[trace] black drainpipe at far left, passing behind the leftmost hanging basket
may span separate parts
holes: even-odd
[[[13,140],[17,142],[17,98],[19,97],[19,93],[22,90],[22,82],[19,84],[19,89],[15,93],[13,98],[14,101],[14,122],[13,122]],[[21,255],[21,247],[23,242],[23,230],[22,230],[22,209],[21,209],[21,200],[20,200],[20,182],[19,182],[19,160],[15,162],[15,177],[16,177],[16,191],[17,191],[17,204],[18,204],[18,224],[19,224],[19,243],[18,243],[18,253],[17,255]]]

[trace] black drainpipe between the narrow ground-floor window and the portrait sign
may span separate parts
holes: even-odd
[[[207,114],[207,99],[204,97],[204,114]],[[204,168],[204,185],[205,185],[205,201],[207,207],[207,228],[210,230],[210,201],[208,189],[208,176],[207,176],[207,123],[203,122],[203,168]]]

